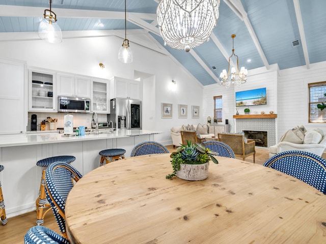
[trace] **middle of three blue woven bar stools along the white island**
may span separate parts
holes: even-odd
[[[46,213],[51,210],[50,204],[46,203],[46,195],[45,195],[45,171],[50,164],[54,162],[65,162],[70,164],[71,162],[75,161],[74,156],[55,156],[46,159],[41,159],[37,161],[36,165],[42,167],[42,177],[41,177],[41,185],[39,190],[39,197],[36,199],[36,225],[43,225],[44,224],[44,216]],[[45,207],[49,207],[44,213],[43,210]]]

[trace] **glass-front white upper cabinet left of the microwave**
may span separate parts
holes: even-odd
[[[29,69],[29,111],[56,112],[55,73]]]

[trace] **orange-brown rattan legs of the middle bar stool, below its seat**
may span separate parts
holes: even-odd
[[[41,184],[39,190],[39,197],[36,199],[36,225],[43,225],[44,224],[44,216],[46,213],[51,210],[50,204],[46,203],[46,196],[45,196],[45,171],[47,167],[42,167],[42,177],[41,177]],[[44,208],[49,207],[44,213]]]

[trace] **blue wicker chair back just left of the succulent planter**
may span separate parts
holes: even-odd
[[[164,145],[156,141],[144,141],[136,145],[130,157],[149,155],[149,154],[168,154],[169,150]]]

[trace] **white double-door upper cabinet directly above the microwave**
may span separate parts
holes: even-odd
[[[58,74],[58,96],[91,98],[91,79],[70,74]]]

